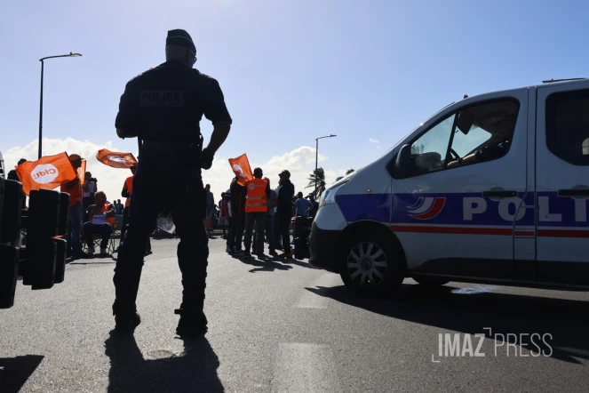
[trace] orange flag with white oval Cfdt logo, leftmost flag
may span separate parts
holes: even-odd
[[[77,173],[67,153],[42,156],[36,161],[27,161],[16,167],[22,182],[22,190],[28,194],[39,188],[53,189],[64,181],[75,180]]]

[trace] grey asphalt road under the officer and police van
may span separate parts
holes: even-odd
[[[19,285],[0,310],[0,392],[589,390],[587,293],[406,280],[389,299],[360,299],[305,261],[240,261],[214,239],[209,333],[184,342],[177,241],[152,244],[134,335],[110,333],[111,259],[69,264],[51,290]],[[444,333],[459,333],[453,357],[446,341],[440,356]]]

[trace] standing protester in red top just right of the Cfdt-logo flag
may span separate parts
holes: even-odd
[[[77,154],[70,154],[69,161],[77,171],[82,166],[82,157]],[[84,258],[82,251],[82,239],[80,231],[82,230],[82,185],[80,178],[61,184],[61,192],[69,194],[69,211],[68,211],[68,255],[72,258]]]

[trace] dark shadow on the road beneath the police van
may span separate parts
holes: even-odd
[[[537,354],[540,350],[550,354],[551,349],[536,338],[534,341],[539,343],[538,349],[530,342],[530,336],[525,334],[543,336],[550,333],[552,338],[545,337],[552,348],[550,357],[577,364],[581,364],[579,358],[589,359],[587,301],[465,291],[451,286],[426,289],[421,285],[402,285],[387,299],[361,298],[343,285],[306,289],[386,317],[461,333],[484,333],[487,338],[496,338],[497,346],[506,341],[528,349],[530,354]],[[490,327],[491,333],[488,329],[483,330],[485,327]],[[512,335],[507,336],[508,333]],[[504,354],[505,347],[499,347]],[[511,353],[513,356],[513,350]]]

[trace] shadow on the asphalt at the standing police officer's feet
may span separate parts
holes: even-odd
[[[108,392],[224,392],[217,375],[219,357],[209,341],[184,341],[184,351],[175,356],[145,359],[132,334],[110,333],[105,353],[110,358]],[[157,354],[156,354],[157,355]]]

